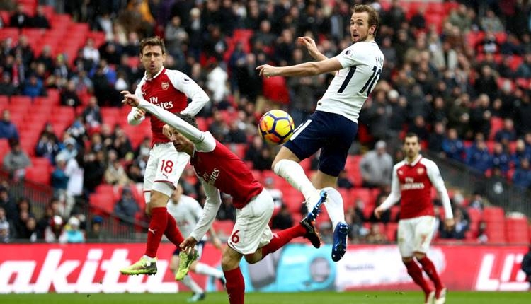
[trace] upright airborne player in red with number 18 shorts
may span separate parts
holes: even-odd
[[[165,59],[166,48],[159,37],[149,37],[140,42],[140,61],[146,72],[135,95],[172,113],[196,115],[209,101],[207,93],[180,71],[165,69]],[[192,100],[190,104],[188,99]],[[133,107],[127,115],[127,122],[139,124],[144,120],[144,115],[144,110]],[[164,122],[154,116],[150,121],[152,149],[144,173],[146,213],[151,215],[146,251],[138,262],[120,269],[122,274],[156,274],[156,251],[162,235],[166,235],[177,246],[183,241],[175,219],[166,210],[166,204],[190,156],[176,151],[163,134]]]

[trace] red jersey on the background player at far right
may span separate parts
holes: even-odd
[[[419,158],[408,164],[401,161],[395,165],[393,180],[398,180],[400,185],[400,218],[415,218],[418,216],[435,216],[431,201],[432,180],[430,175],[435,175],[439,170],[435,163],[426,158]]]

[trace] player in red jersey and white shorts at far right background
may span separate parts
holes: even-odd
[[[454,226],[454,218],[439,168],[433,161],[423,158],[419,154],[420,150],[418,136],[413,133],[406,134],[406,159],[394,165],[391,194],[375,209],[375,216],[379,218],[383,211],[401,201],[398,246],[402,262],[406,265],[409,276],[424,291],[425,303],[432,304],[435,300],[435,304],[444,304],[446,288],[442,285],[433,262],[426,256],[435,229],[435,211],[431,202],[432,186],[437,190],[445,209],[447,229]],[[423,278],[422,270],[415,259],[435,284],[435,291]]]

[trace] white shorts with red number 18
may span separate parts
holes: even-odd
[[[190,156],[177,152],[172,143],[155,144],[149,151],[144,173],[144,199],[151,201],[151,191],[156,190],[171,196]]]

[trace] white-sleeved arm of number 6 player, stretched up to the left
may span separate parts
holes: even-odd
[[[133,95],[127,92],[127,90],[124,90],[120,93],[122,93],[122,95],[124,96],[122,103],[130,105],[132,107],[139,107],[141,109],[146,110],[147,112],[152,113],[152,115],[155,115],[157,118],[161,119],[161,121],[166,122],[166,124],[169,124],[171,127],[175,128],[187,139],[190,139],[190,141],[196,143],[204,139],[205,136],[203,135],[202,131],[193,127],[191,124],[188,124],[188,122],[185,122],[183,119],[177,117],[176,115],[173,115],[173,113],[164,110],[161,107],[157,107],[156,105],[149,103],[147,100],[141,100],[140,98],[138,98],[137,95]]]

